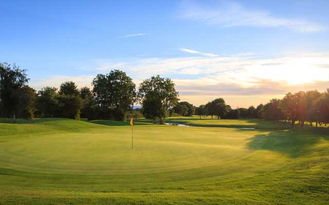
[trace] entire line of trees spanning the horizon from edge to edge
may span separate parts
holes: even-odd
[[[187,101],[179,101],[179,93],[169,78],[159,75],[145,79],[136,90],[131,77],[120,70],[98,74],[92,81],[93,89],[77,88],[66,81],[60,88],[44,87],[36,91],[29,87],[27,71],[16,65],[0,63],[0,116],[20,117],[65,117],[72,119],[123,120],[129,115],[160,119],[167,116],[211,116],[217,119],[258,118],[290,122],[295,126],[305,121],[329,123],[329,89],[287,93],[282,99],[271,99],[257,107],[232,109],[223,98],[216,98],[205,105],[195,107]],[[142,108],[133,111],[138,103]]]

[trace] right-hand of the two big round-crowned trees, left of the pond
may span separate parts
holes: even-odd
[[[139,86],[138,98],[142,106],[147,103],[148,107],[152,106],[149,102],[153,102],[152,109],[144,109],[143,114],[152,110],[152,116],[159,117],[160,123],[163,124],[166,118],[167,110],[177,104],[178,92],[175,90],[175,84],[169,78],[162,78],[159,75],[145,79]]]

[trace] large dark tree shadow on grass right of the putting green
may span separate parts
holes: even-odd
[[[247,132],[245,130],[240,130]],[[321,139],[329,140],[327,129],[295,128],[291,130],[276,130],[268,134],[255,135],[248,143],[252,150],[269,150],[297,158],[312,154],[308,148],[316,145]],[[315,150],[312,149],[312,152]]]

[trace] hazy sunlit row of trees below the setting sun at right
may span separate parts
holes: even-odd
[[[260,104],[256,108],[231,109],[225,104],[224,99],[215,99],[206,105],[195,108],[195,114],[201,116],[213,115],[217,118],[238,119],[238,118],[258,118],[273,121],[290,122],[294,127],[296,121],[299,121],[301,127],[304,127],[305,121],[310,126],[315,122],[329,123],[329,89],[320,93],[317,90],[300,91],[297,93],[287,93],[283,99],[271,99],[269,103]]]

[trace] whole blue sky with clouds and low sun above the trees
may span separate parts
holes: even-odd
[[[36,90],[159,74],[195,106],[329,88],[329,1],[2,1],[0,61]]]

